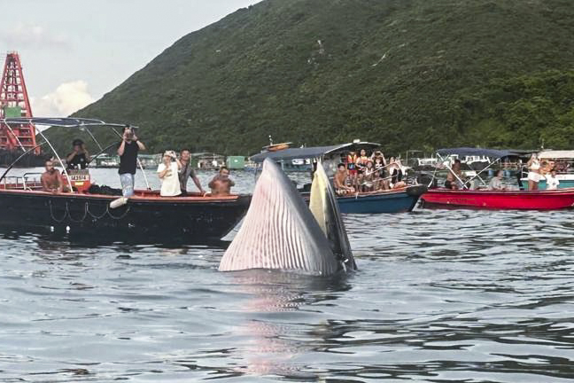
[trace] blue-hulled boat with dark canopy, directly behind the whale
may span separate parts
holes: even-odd
[[[262,163],[270,158],[277,162],[291,160],[312,160],[315,163],[321,161],[327,175],[332,177],[337,164],[341,162],[341,156],[348,152],[360,152],[361,149],[375,151],[380,147],[376,143],[361,142],[330,146],[315,146],[304,148],[288,148],[277,152],[262,152],[250,158],[254,163]],[[405,213],[415,208],[416,203],[427,190],[425,185],[413,184],[402,189],[391,191],[360,192],[351,195],[338,196],[337,202],[343,214],[382,214],[382,213]],[[309,185],[301,190],[304,198],[308,198]]]

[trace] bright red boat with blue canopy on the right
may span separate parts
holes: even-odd
[[[443,187],[430,188],[421,197],[421,207],[431,208],[474,208],[495,210],[559,210],[574,207],[574,189],[556,191],[524,191],[516,190],[492,191],[474,187],[474,181],[479,180],[485,185],[480,175],[500,160],[516,157],[516,152],[494,149],[453,148],[441,149],[438,156],[458,154],[460,156],[486,156],[490,163],[477,176],[469,180],[458,178],[462,188],[459,190]],[[433,183],[436,184],[436,183]]]

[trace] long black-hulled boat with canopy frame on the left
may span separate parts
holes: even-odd
[[[0,122],[10,124],[23,120],[36,125],[72,129],[110,127],[115,131],[114,128],[125,126],[75,118],[17,118]],[[219,240],[233,230],[251,201],[249,195],[212,197],[209,194],[190,194],[165,198],[159,196],[159,191],[151,191],[148,185],[147,190],[137,190],[125,205],[113,208],[112,201],[118,199],[120,191],[91,184],[88,169],[66,170],[40,129],[38,134],[44,140],[40,145],[49,145],[58,158],[66,183],[73,191],[43,191],[37,177],[40,174],[7,176],[12,166],[7,168],[0,177],[0,225],[4,228],[63,232],[70,237],[113,238],[130,243],[200,244]],[[147,183],[147,179],[145,181]]]

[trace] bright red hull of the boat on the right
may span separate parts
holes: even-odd
[[[430,189],[423,207],[558,210],[574,207],[574,188],[554,191],[476,191]]]

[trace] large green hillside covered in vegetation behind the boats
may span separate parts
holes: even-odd
[[[140,125],[153,152],[572,148],[573,36],[571,0],[267,0],[76,115]]]

